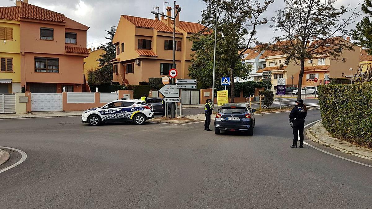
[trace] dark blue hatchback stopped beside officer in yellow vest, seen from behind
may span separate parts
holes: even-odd
[[[254,112],[256,112],[256,109],[251,109],[246,103],[222,105],[214,120],[214,133],[241,131],[247,135],[253,135]]]

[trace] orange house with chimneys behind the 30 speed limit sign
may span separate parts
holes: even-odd
[[[167,15],[171,15],[167,7]],[[199,23],[180,21],[176,17],[176,69],[177,78],[188,78],[190,36],[205,27]],[[113,63],[112,83],[138,84],[149,77],[168,75],[173,59],[173,21],[161,17],[147,19],[121,15],[113,39],[116,59]]]

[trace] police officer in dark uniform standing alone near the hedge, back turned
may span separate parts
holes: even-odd
[[[302,99],[296,100],[296,106],[289,113],[289,120],[293,123],[293,144],[291,148],[297,148],[298,134],[300,136],[300,148],[304,143],[304,125],[307,115],[306,105]]]

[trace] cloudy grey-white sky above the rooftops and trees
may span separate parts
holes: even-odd
[[[166,4],[166,6],[173,4],[173,0],[166,1],[170,3]],[[363,2],[364,0],[360,1]],[[154,15],[150,12],[156,6],[159,7],[160,12],[163,12],[163,2],[164,0],[29,0],[29,3],[33,5],[62,13],[89,26],[88,41],[93,43],[94,47],[106,42],[104,38],[106,35],[105,30],[108,30],[111,26],[118,25],[120,15],[154,18]],[[12,0],[0,0],[0,6],[14,6],[14,4],[15,1]],[[177,4],[182,7],[180,20],[188,22],[198,22],[201,10],[205,8],[205,5],[200,0],[177,0]],[[360,9],[361,3],[359,3],[359,0],[337,0],[336,7],[349,4],[350,8],[358,7]],[[272,17],[275,10],[283,7],[284,1],[276,0],[275,3],[270,5],[265,16]],[[360,19],[361,17],[356,19],[356,21]],[[269,24],[261,26],[257,30],[257,37],[262,42],[269,42],[272,39],[273,32],[269,28]]]

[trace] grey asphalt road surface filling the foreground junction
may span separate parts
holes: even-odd
[[[0,173],[0,208],[371,208],[372,169],[289,148],[287,118],[256,115],[254,136],[203,123],[0,120],[0,145],[28,155]],[[318,119],[309,110],[306,123]]]

